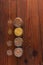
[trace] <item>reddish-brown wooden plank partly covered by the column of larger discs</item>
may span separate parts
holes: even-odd
[[[29,3],[29,0],[28,0]],[[28,19],[29,17],[27,17],[28,13],[27,11],[28,8],[27,6],[29,6],[27,4],[27,0],[17,0],[17,17],[21,17],[23,19],[24,25],[23,25],[23,29],[24,29],[24,43],[23,43],[23,51],[24,54],[23,56],[18,59],[18,65],[29,65],[29,54],[28,54]]]

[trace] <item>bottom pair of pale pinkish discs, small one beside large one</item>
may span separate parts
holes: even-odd
[[[14,56],[19,58],[19,57],[22,56],[22,54],[23,54],[23,49],[22,48],[15,48],[14,51],[11,50],[11,49],[7,50],[7,55],[8,56],[14,55]]]

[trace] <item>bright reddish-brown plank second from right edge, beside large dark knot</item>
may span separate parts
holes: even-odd
[[[33,50],[36,50],[38,52],[38,55],[35,57],[34,60],[34,65],[39,65],[39,62],[41,61],[41,40],[37,0],[30,0],[30,22],[32,30],[31,37]]]

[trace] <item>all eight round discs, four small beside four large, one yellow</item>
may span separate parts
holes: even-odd
[[[11,24],[12,21],[8,21],[8,24]],[[23,35],[23,21],[21,18],[17,17],[14,22],[13,22],[13,26],[15,27],[14,29],[14,35],[16,36],[15,39],[14,39],[14,45],[16,46],[16,48],[14,49],[14,55],[16,57],[21,57],[22,54],[23,54],[23,49],[21,48],[22,47],[22,44],[23,44],[23,37],[21,37]],[[8,34],[11,35],[12,34],[12,30],[10,29],[8,31]],[[7,41],[7,46],[10,47],[12,46],[12,41],[9,40]],[[7,50],[7,55],[10,56],[12,55],[12,50]]]

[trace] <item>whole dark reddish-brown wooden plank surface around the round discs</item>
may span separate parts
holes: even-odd
[[[42,65],[43,62],[43,0],[10,0],[10,19],[23,19],[24,54],[21,58],[8,57],[9,0],[0,0],[0,65]],[[12,25],[11,28],[13,29]],[[11,47],[14,50],[15,46]]]

